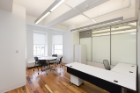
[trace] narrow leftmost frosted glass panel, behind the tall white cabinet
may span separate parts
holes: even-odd
[[[80,44],[86,45],[87,61],[91,61],[91,37],[89,37],[89,38],[81,38],[80,39]]]

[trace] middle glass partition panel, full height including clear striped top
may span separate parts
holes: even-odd
[[[92,61],[110,63],[110,27],[92,30]]]

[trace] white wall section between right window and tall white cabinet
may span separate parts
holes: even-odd
[[[74,61],[74,45],[79,44],[79,32],[71,32],[70,30],[74,28],[69,27],[69,30],[64,33],[64,51],[63,51],[63,62],[71,63]]]

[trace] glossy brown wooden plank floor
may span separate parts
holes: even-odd
[[[46,75],[47,72],[47,75]],[[67,68],[58,65],[55,70],[39,72],[27,69],[26,85],[6,93],[109,93],[91,83],[84,82],[77,87],[70,82]],[[134,93],[128,91],[128,93]]]

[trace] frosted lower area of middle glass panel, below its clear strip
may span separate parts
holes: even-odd
[[[110,36],[92,37],[92,61],[103,63],[104,59],[110,62]]]

